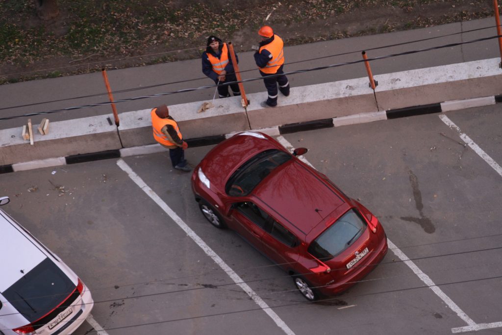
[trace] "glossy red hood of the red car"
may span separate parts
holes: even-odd
[[[284,150],[265,134],[239,133],[211,149],[200,163],[200,167],[211,184],[223,192],[228,178],[239,166],[268,149]]]

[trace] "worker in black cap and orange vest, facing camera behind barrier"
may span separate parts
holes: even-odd
[[[233,95],[240,95],[239,85],[235,82],[237,77],[233,69],[232,60],[228,46],[214,35],[207,39],[206,51],[202,53],[202,72],[211,78],[218,85],[218,95],[220,98],[230,96],[228,86],[232,89]],[[235,54],[237,63],[239,59]],[[233,84],[222,85],[228,82]]]

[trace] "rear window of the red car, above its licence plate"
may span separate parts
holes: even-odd
[[[364,220],[350,209],[310,244],[308,252],[319,260],[328,261],[354,243],[365,228]]]

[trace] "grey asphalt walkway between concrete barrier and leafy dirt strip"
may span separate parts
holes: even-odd
[[[281,35],[281,32],[276,32]],[[416,29],[403,32],[346,38],[333,41],[285,47],[285,71],[313,69],[332,64],[343,64],[362,59],[366,50],[371,58],[407,53],[432,47],[462,43],[496,36],[495,20],[487,18],[461,23]],[[256,38],[257,36],[251,36]],[[230,41],[231,42],[231,41]],[[387,46],[387,47],[386,47]],[[238,46],[236,46],[238,49]],[[496,39],[449,46],[371,61],[376,80],[379,74],[411,69],[462,63],[499,56]],[[260,77],[254,64],[253,52],[239,53],[242,79]],[[106,64],[103,64],[105,66]],[[182,89],[211,85],[213,82],[201,71],[200,59],[168,62],[144,67],[107,71],[114,99],[130,99]],[[363,63],[341,65],[324,70],[290,74],[293,87],[365,77]],[[154,86],[154,87],[151,87]],[[265,91],[262,80],[244,83],[247,93]],[[127,92],[117,93],[119,91]],[[148,109],[161,103],[168,105],[212,99],[214,88],[169,94],[160,97],[117,103],[118,113]],[[0,86],[0,116],[11,117],[48,110],[64,109],[108,101],[100,72],[6,84]],[[85,97],[87,96],[87,97]],[[109,114],[109,105],[86,107],[50,114],[51,121],[78,119]],[[34,122],[43,116],[33,117]],[[0,129],[26,124],[27,117],[1,120]]]

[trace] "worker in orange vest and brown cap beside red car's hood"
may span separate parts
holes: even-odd
[[[188,148],[188,144],[183,141],[183,136],[176,121],[169,116],[169,108],[162,104],[152,109],[150,114],[154,139],[161,146],[169,149],[169,157],[171,157],[173,168],[185,172],[191,171],[192,169],[185,159],[185,149]]]

